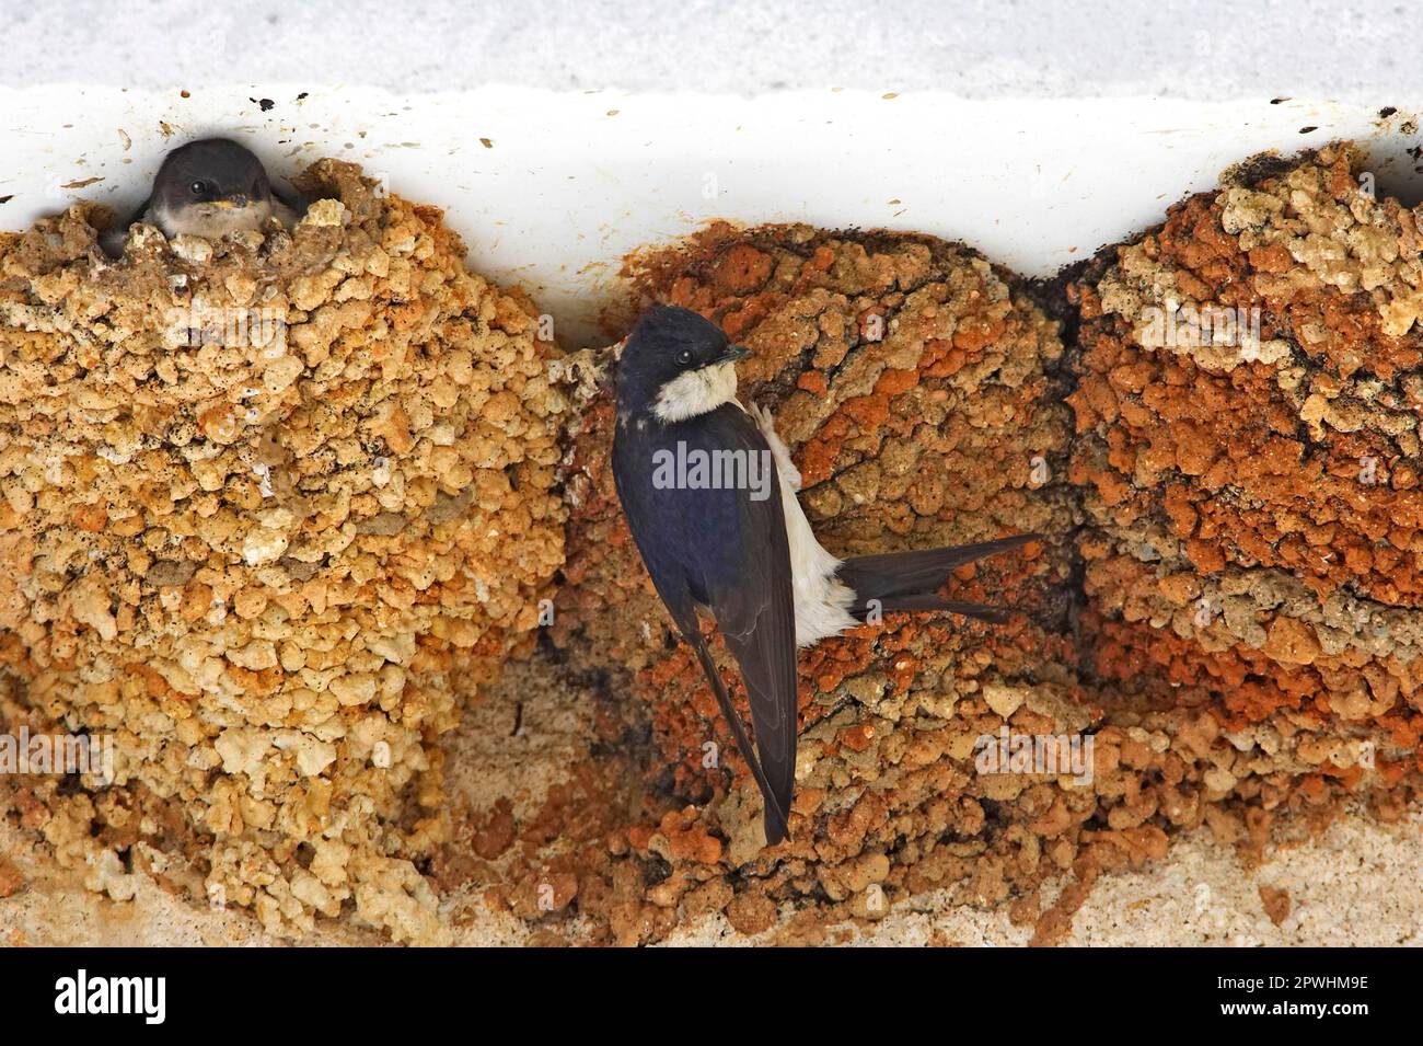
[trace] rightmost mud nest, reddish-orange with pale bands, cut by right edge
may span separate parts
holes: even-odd
[[[1124,761],[1174,756],[1118,821],[1255,842],[1342,794],[1396,817],[1423,726],[1417,213],[1349,145],[1275,168],[1070,292],[1091,670]]]

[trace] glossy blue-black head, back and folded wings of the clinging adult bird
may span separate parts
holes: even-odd
[[[690,353],[690,361],[679,361],[679,353]],[[736,403],[673,423],[653,410],[666,381],[727,353],[721,332],[696,313],[656,309],[643,317],[619,364],[613,478],[657,595],[696,652],[761,787],[766,837],[776,844],[785,837],[795,774],[795,609],[776,465],[766,437]],[[659,488],[659,451],[754,455],[770,470],[768,482]],[[741,669],[754,750],[699,629],[699,605],[710,609]]]

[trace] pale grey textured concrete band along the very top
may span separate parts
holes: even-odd
[[[1406,4],[1377,0],[253,0],[231,7],[148,0],[125,6],[120,24],[102,0],[7,0],[0,9],[7,36],[0,84],[10,87],[307,78],[410,94],[517,84],[1355,101],[1416,90],[1412,50],[1423,19]]]

